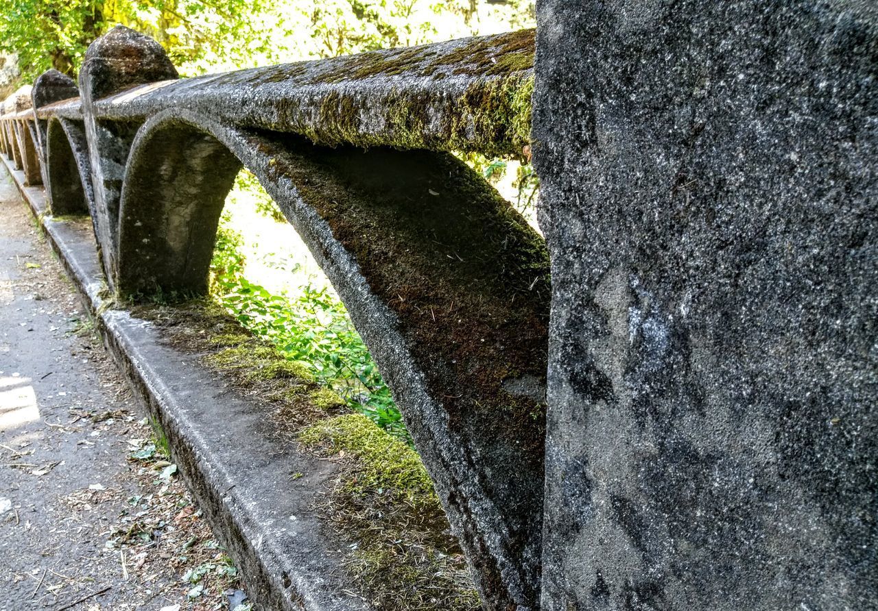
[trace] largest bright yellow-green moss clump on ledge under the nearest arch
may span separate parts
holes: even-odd
[[[421,457],[406,444],[378,429],[362,414],[336,416],[303,430],[299,441],[331,453],[356,454],[356,476],[349,480],[351,492],[365,494],[378,489],[405,496],[417,506],[438,503],[433,482]]]

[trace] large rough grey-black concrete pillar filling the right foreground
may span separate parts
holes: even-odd
[[[543,609],[878,608],[874,4],[538,10]]]

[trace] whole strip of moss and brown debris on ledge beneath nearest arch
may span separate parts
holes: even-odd
[[[475,611],[479,596],[421,458],[350,413],[308,370],[206,299],[134,308],[169,341],[274,410],[278,440],[338,465],[316,507],[349,544],[354,590],[378,611]]]

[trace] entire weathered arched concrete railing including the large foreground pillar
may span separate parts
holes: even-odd
[[[177,80],[118,28],[7,101],[3,150],[135,300],[205,291],[253,171],[487,608],[878,607],[873,11],[538,13],[536,68],[516,32]],[[444,153],[529,143],[545,243]]]

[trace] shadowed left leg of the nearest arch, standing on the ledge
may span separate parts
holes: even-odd
[[[240,169],[226,146],[184,124],[135,143],[119,211],[121,295],[206,292],[219,214]]]

